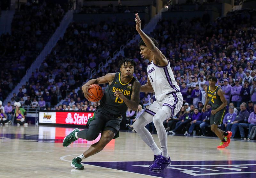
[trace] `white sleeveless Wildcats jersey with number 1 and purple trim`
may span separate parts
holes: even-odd
[[[164,98],[169,93],[180,91],[180,87],[175,81],[171,66],[168,64],[164,67],[156,66],[153,60],[148,64],[148,79],[154,89],[157,101]]]

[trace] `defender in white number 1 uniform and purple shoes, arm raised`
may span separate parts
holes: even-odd
[[[135,14],[136,30],[142,40],[139,43],[142,58],[148,59],[148,83],[142,85],[141,92],[155,92],[156,101],[145,109],[139,119],[133,124],[133,128],[147,143],[154,154],[154,164],[149,170],[160,172],[171,165],[171,159],[167,152],[167,135],[163,125],[164,120],[172,118],[179,111],[183,103],[180,88],[175,81],[169,60],[158,49],[158,43],[154,38],[148,37],[141,30],[141,20],[138,13]],[[154,122],[161,150],[157,147],[150,132],[145,126]]]

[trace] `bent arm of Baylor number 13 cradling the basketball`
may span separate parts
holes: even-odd
[[[102,77],[99,77],[97,79],[92,79],[92,80],[89,80],[87,81],[83,86],[82,86],[82,90],[84,92],[84,97],[86,99],[91,99],[90,97],[90,93],[88,93],[88,89],[90,88],[90,85],[92,84],[104,84],[104,83],[109,83],[111,84],[112,81],[114,80],[115,78],[115,73],[108,73]]]

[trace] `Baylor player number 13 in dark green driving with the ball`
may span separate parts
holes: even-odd
[[[127,110],[127,106],[133,111],[138,109],[140,100],[140,82],[133,77],[136,63],[132,59],[122,59],[119,61],[120,73],[108,73],[103,77],[92,79],[82,87],[84,97],[90,98],[88,89],[92,84],[108,83],[105,94],[100,100],[100,106],[97,106],[93,117],[87,121],[86,127],[79,131],[74,129],[67,135],[62,145],[67,147],[78,138],[86,140],[95,140],[100,132],[99,142],[94,143],[90,148],[80,156],[72,160],[71,166],[76,169],[84,169],[81,161],[89,156],[100,152],[113,138],[119,136],[122,114]],[[92,95],[91,95],[92,96]]]

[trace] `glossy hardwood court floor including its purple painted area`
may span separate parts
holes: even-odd
[[[84,170],[76,170],[71,160],[99,137],[96,141],[79,139],[64,148],[62,140],[71,130],[0,127],[0,177],[256,177],[255,142],[231,140],[228,148],[217,150],[220,141],[215,138],[167,135],[172,165],[155,173],[148,170],[153,152],[138,134],[130,132],[120,132],[103,151],[83,160]],[[159,145],[157,135],[153,137]]]

